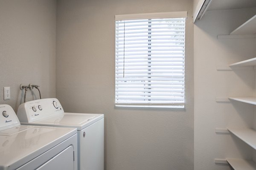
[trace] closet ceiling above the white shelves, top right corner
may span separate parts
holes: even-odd
[[[256,0],[212,0],[207,11],[253,7],[256,7]]]

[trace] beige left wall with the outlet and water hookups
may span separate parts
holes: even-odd
[[[55,31],[55,0],[0,0],[1,104],[17,111],[23,102],[20,84],[40,85],[43,98],[55,97]],[[3,100],[4,86],[11,87],[10,100]]]

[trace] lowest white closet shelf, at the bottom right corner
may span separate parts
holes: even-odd
[[[227,162],[234,170],[256,170],[256,164],[252,160],[227,158]]]

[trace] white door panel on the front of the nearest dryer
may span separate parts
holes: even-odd
[[[69,146],[36,170],[73,170],[73,147]]]

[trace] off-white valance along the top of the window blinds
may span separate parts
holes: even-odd
[[[116,15],[115,20],[143,20],[143,19],[162,19],[162,18],[186,18],[187,11],[175,11],[175,12],[156,12],[156,13],[144,13],[144,14],[121,14]]]

